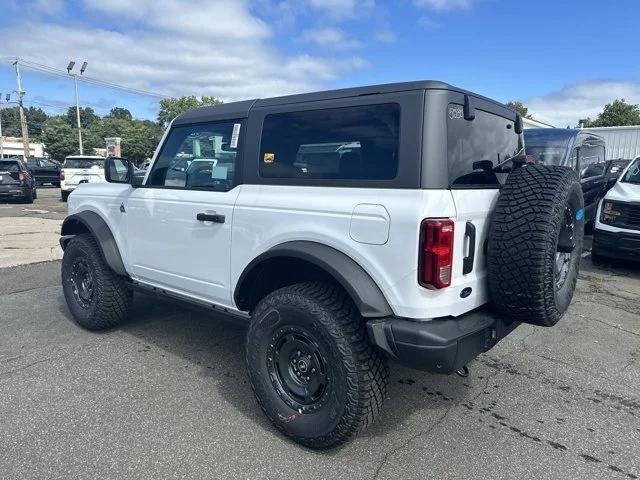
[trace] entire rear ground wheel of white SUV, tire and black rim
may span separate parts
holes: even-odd
[[[258,403],[285,435],[312,448],[346,442],[382,407],[387,366],[339,288],[309,282],[277,290],[256,307],[246,364]]]

